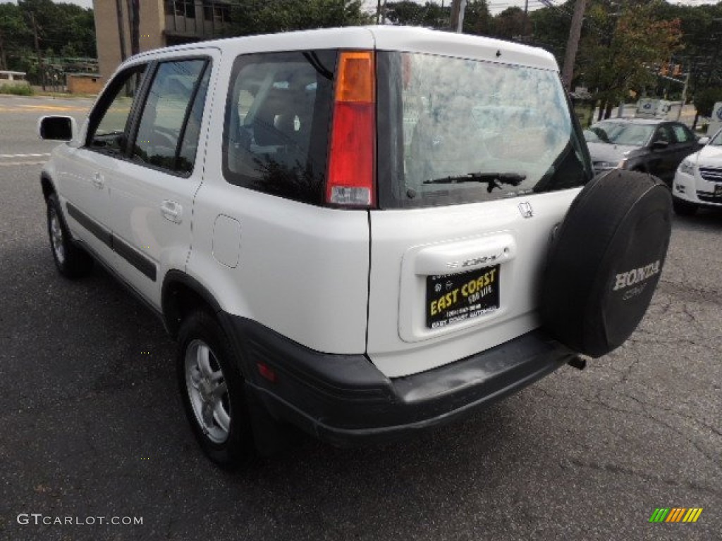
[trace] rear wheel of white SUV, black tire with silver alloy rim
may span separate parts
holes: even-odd
[[[235,469],[254,456],[243,376],[217,320],[193,312],[178,331],[178,384],[186,417],[201,449]]]

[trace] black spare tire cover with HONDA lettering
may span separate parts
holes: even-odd
[[[567,347],[599,357],[644,316],[671,234],[671,194],[656,177],[613,170],[583,188],[557,229],[541,318]]]

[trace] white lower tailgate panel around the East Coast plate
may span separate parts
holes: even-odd
[[[535,302],[552,229],[578,193],[574,189],[468,205],[373,211],[367,351],[374,364],[388,377],[415,374],[536,328]],[[524,201],[534,208],[534,218],[521,216],[518,204]],[[419,270],[434,270],[427,268],[428,253],[448,250],[475,258],[479,247],[484,252],[484,243],[487,248],[510,248],[501,263],[500,309],[427,329],[427,275]]]

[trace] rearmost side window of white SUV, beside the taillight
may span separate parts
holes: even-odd
[[[323,203],[335,50],[239,56],[223,131],[232,184]]]

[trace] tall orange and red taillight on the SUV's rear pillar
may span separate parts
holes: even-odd
[[[373,52],[339,55],[326,203],[375,205],[375,63]]]

